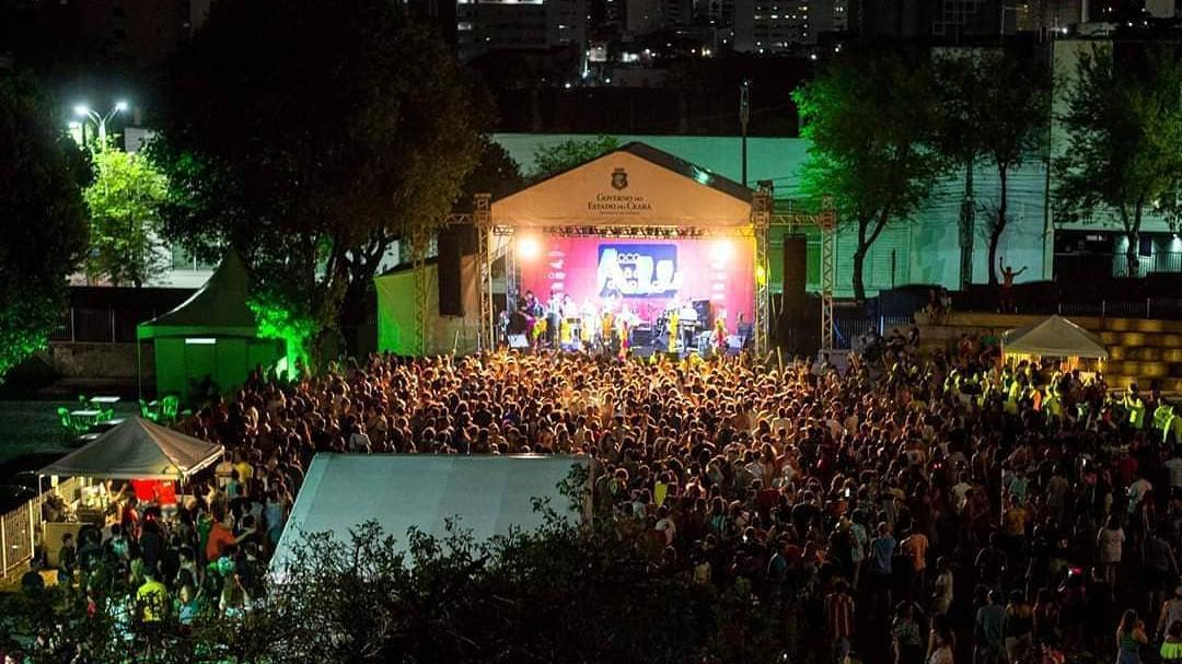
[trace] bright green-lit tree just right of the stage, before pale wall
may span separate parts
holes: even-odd
[[[866,298],[864,266],[891,221],[918,207],[943,171],[930,148],[937,123],[931,67],[896,53],[847,56],[793,93],[801,136],[811,142],[803,169],[807,196],[832,196],[843,223],[857,230],[853,295]]]

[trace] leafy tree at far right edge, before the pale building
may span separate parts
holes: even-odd
[[[1169,219],[1182,182],[1182,60],[1164,47],[1141,66],[1119,66],[1096,47],[1079,60],[1063,122],[1067,149],[1056,163],[1056,217],[1112,211],[1128,240],[1129,275],[1141,268],[1147,209]]]

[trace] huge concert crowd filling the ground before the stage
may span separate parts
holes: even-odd
[[[180,423],[233,454],[195,499],[168,519],[131,501],[60,558],[182,620],[243,611],[318,451],[585,454],[595,509],[655,566],[781,617],[788,660],[1182,662],[1182,454],[1147,416],[1167,408],[915,334],[840,369],[502,351],[258,371]]]

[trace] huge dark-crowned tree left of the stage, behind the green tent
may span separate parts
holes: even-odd
[[[323,359],[395,241],[447,221],[480,152],[482,96],[387,0],[226,0],[169,72],[154,160],[165,234],[236,248]]]

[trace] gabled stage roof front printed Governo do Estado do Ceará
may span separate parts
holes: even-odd
[[[751,226],[754,193],[643,143],[552,175],[493,201],[493,223],[544,227]]]

